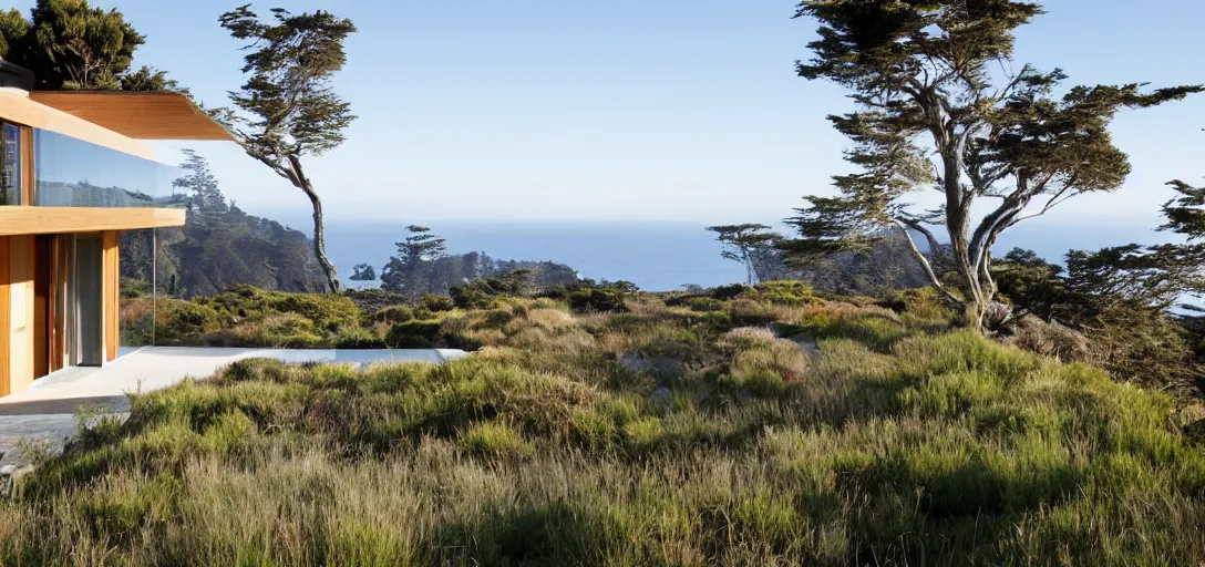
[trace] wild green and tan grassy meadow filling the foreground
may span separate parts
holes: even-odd
[[[0,563],[1205,565],[1176,400],[924,294],[570,303],[362,314],[477,350],[445,366],[252,360],[137,395],[0,503]]]

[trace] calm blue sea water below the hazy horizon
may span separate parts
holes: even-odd
[[[333,220],[327,228],[331,261],[343,274],[362,262],[380,268],[395,253],[394,243],[406,236],[406,224]],[[745,278],[740,265],[719,256],[721,244],[703,224],[433,223],[431,229],[447,238],[452,253],[476,250],[499,259],[553,260],[572,266],[583,277],[627,279],[646,290],[712,287]],[[1165,235],[1145,226],[1031,224],[1006,232],[995,252],[1022,247],[1060,260],[1069,249],[1164,241]]]

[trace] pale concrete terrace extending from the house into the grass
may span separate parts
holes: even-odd
[[[23,438],[45,439],[60,447],[75,433],[75,412],[81,406],[105,407],[112,413],[129,409],[129,392],[146,392],[202,379],[218,368],[245,359],[284,362],[325,362],[364,366],[374,362],[446,362],[465,356],[463,350],[293,350],[255,348],[146,347],[123,349],[99,368],[64,368],[17,395],[0,398],[0,453],[10,453]],[[4,461],[10,461],[5,459]]]

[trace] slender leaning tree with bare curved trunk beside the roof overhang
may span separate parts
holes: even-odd
[[[355,119],[331,88],[331,77],[347,60],[343,41],[355,25],[323,11],[293,16],[274,8],[272,16],[271,23],[261,22],[249,4],[222,14],[222,26],[249,42],[242,67],[248,77],[240,91],[230,94],[237,110],[219,108],[213,116],[235,134],[247,155],[310,199],[313,250],[334,293],[339,278],[327,258],[322,199],[302,160],[343,143],[343,130]]]

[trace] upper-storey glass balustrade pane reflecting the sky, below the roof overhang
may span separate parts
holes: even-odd
[[[48,130],[34,132],[42,207],[183,207],[172,182],[181,170]]]

